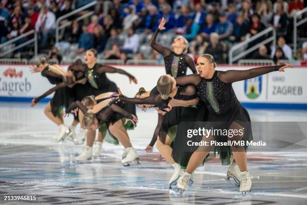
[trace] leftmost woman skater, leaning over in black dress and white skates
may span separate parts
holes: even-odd
[[[49,65],[47,63],[47,58],[42,57],[36,67],[32,66],[32,73],[41,72],[42,76],[46,77],[50,83],[52,84],[60,84],[63,82],[63,77],[65,75],[65,71],[59,65]],[[45,95],[44,95],[45,96]],[[46,95],[47,96],[47,95]],[[34,98],[32,100],[32,107],[37,104],[37,102],[42,98]],[[44,113],[45,115],[57,126],[60,127],[57,135],[54,136],[53,139],[58,142],[61,141],[66,134],[69,134],[74,140],[76,139],[75,134],[75,126],[78,124],[78,121],[74,120],[70,127],[67,127],[64,124],[62,109],[63,107],[67,108],[71,102],[74,101],[73,98],[73,90],[69,87],[62,87],[61,89],[56,90],[52,99],[48,102]]]

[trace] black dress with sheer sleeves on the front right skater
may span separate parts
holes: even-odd
[[[176,78],[177,85],[194,84],[198,90],[198,96],[208,108],[207,123],[204,127],[207,129],[231,129],[235,124],[239,124],[244,128],[243,141],[251,141],[252,131],[251,122],[247,110],[240,104],[236,94],[232,88],[232,82],[257,77],[268,72],[277,71],[280,66],[259,67],[249,70],[228,70],[215,71],[210,79],[201,77],[200,75],[187,75]],[[179,134],[185,135],[187,131]],[[218,142],[227,142],[227,136],[216,134],[213,136]],[[199,138],[197,141],[202,139]],[[183,141],[186,143],[186,141]],[[244,146],[245,150],[247,146]],[[206,150],[207,151],[207,150]],[[223,164],[230,164],[230,147],[216,146],[215,151],[220,154]]]

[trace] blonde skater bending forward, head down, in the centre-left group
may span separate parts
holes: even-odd
[[[137,118],[116,104],[118,103],[114,98],[105,99],[99,102],[97,105],[93,106],[92,110],[89,110],[80,101],[76,101],[69,106],[66,113],[74,111],[76,115],[77,112],[75,109],[79,108],[84,114],[82,120],[83,127],[88,131],[96,131],[99,129],[100,132],[104,132],[106,130],[104,130],[103,127],[105,124],[107,124],[110,133],[118,139],[118,141],[124,146],[126,150],[127,154],[122,159],[122,164],[126,166],[133,161],[138,161],[138,155],[129,141],[126,130],[123,131],[123,129],[120,127],[124,126],[125,129],[133,128],[137,122]],[[121,105],[121,107],[124,107],[124,105]],[[124,122],[122,121],[122,118],[118,119],[118,116],[116,116],[118,114],[120,114],[119,116],[125,117]],[[88,146],[87,151],[92,153],[92,148]],[[90,160],[91,156],[87,159]]]

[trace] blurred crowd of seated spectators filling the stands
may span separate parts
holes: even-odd
[[[98,0],[97,4],[59,22],[68,27],[60,30],[60,42],[55,44],[56,20],[92,0],[2,0],[0,1],[0,38],[5,43],[21,34],[35,29],[39,34],[39,48],[52,48],[51,58],[61,61],[63,56],[74,58],[90,48],[96,48],[104,59],[157,59],[162,56],[150,50],[145,52],[151,33],[162,17],[167,20],[164,38],[158,41],[165,46],[176,35],[184,36],[194,56],[212,54],[217,63],[227,62],[231,46],[274,27],[277,45],[262,45],[246,58],[307,60],[307,43],[299,44],[292,55],[292,17],[303,9],[302,0]],[[94,14],[78,21],[77,18],[92,11]],[[291,25],[289,28],[289,25]],[[307,37],[307,26],[298,32]],[[16,42],[20,45],[33,38],[26,36]],[[250,48],[261,42],[248,44]],[[158,43],[159,43],[158,42]],[[59,54],[61,51],[61,55]],[[21,57],[23,48],[15,51]]]

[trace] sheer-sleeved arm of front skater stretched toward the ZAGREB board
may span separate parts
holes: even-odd
[[[252,68],[249,70],[227,70],[225,72],[220,72],[219,78],[223,82],[232,83],[240,80],[245,80],[259,75],[263,75],[273,71],[284,71],[284,68],[293,67],[289,64],[275,65],[275,66],[266,66],[259,68]]]

